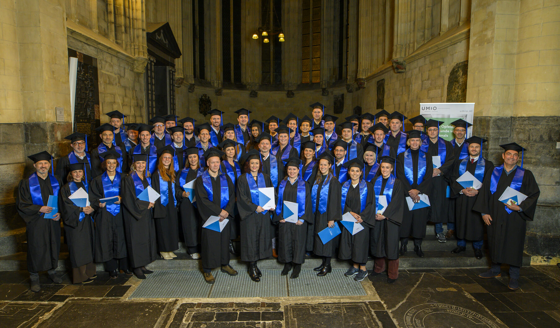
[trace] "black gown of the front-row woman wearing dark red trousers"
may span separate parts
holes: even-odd
[[[383,195],[386,182],[387,179],[383,179],[379,195]],[[389,260],[399,258],[399,229],[405,206],[407,204],[404,200],[403,184],[399,179],[395,179],[391,201],[383,212],[386,219],[376,220],[374,228],[370,229],[370,250],[373,256],[386,257]]]

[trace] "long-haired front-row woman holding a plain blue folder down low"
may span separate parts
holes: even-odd
[[[319,172],[311,188],[311,201],[315,214],[313,252],[323,257],[323,261],[313,270],[318,271],[318,276],[325,276],[332,271],[330,260],[334,256],[339,238],[335,237],[323,244],[319,232],[326,227],[333,228],[335,224],[338,224],[336,221],[342,220],[342,210],[340,209],[342,191],[340,182],[333,175],[334,157],[330,155],[329,151],[325,151],[318,160]]]

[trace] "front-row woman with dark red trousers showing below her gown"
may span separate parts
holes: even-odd
[[[372,275],[385,270],[387,259],[387,282],[394,283],[399,277],[399,227],[403,221],[404,201],[403,186],[393,174],[396,159],[382,156],[381,175],[372,181],[376,199],[375,227],[370,236],[371,254],[375,257]],[[385,196],[387,207],[379,206],[380,196]]]

